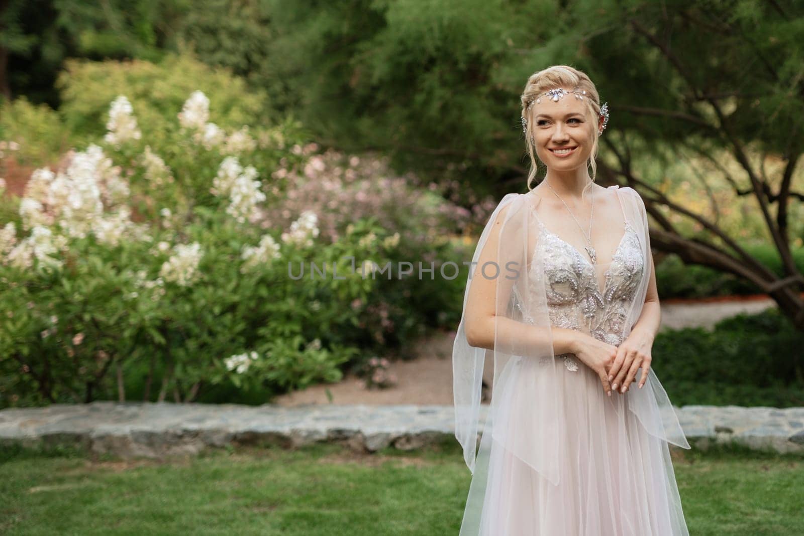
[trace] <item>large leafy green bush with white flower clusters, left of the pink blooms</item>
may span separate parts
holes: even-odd
[[[114,388],[124,399],[135,384],[127,372],[142,374],[137,395],[146,400],[159,376],[158,400],[192,400],[203,384],[229,380],[271,392],[337,380],[338,365],[356,354],[307,341],[321,332],[316,316],[333,331],[357,323],[348,304],[366,300],[375,281],[298,282],[286,266],[377,250],[359,233],[320,242],[310,212],[285,229],[272,225],[266,190],[280,203],[285,186],[273,180],[267,189],[268,169],[301,163],[312,148],[287,145],[287,125],[215,131],[207,104],[191,95],[166,145],[154,147],[121,95],[103,142],[32,173],[15,221],[0,228],[4,404],[12,393],[76,402]]]

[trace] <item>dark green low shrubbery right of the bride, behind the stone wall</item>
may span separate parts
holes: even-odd
[[[804,405],[804,335],[777,309],[736,315],[713,331],[660,332],[652,366],[675,405]]]

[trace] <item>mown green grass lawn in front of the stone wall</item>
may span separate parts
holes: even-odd
[[[674,452],[687,525],[804,534],[804,457]],[[159,462],[0,451],[2,534],[457,534],[470,473],[453,445],[222,450]]]

